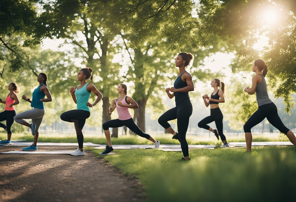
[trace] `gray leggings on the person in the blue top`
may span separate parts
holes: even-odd
[[[32,119],[32,123],[36,124],[35,132],[38,132],[38,129],[42,123],[44,114],[45,114],[45,109],[34,108],[32,110],[27,110],[15,115],[13,119],[15,120],[15,122],[20,123],[22,125],[24,125],[25,123],[28,123],[24,119]]]

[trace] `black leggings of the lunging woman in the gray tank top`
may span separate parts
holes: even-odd
[[[287,134],[290,130],[286,126],[284,126],[283,122],[281,121],[281,118],[279,118],[279,115],[277,113],[276,105],[273,102],[271,102],[269,104],[261,105],[258,107],[258,110],[255,111],[255,113],[252,114],[252,116],[250,116],[250,118],[244,124],[244,132],[250,133],[251,128],[256,126],[265,118],[267,118],[271,125],[276,127],[279,131],[281,131],[284,134]]]

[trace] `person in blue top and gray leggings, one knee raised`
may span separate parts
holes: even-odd
[[[22,96],[22,99],[31,103],[31,107],[34,107],[32,110],[27,110],[22,113],[17,114],[14,117],[15,122],[20,123],[24,126],[28,126],[31,128],[32,135],[34,136],[34,143],[26,148],[22,148],[26,151],[37,150],[37,140],[39,136],[39,126],[42,123],[43,116],[45,114],[45,108],[43,102],[51,102],[52,95],[47,88],[47,76],[44,73],[40,73],[37,77],[37,81],[39,82],[39,86],[34,90],[32,95],[32,100],[27,98],[25,95]],[[46,95],[46,99],[44,99]],[[32,123],[28,123],[24,119],[32,119]]]

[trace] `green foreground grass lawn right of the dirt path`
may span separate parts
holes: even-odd
[[[148,201],[292,201],[295,199],[296,150],[293,146],[192,149],[189,162],[181,152],[157,149],[116,150],[102,156],[139,178]]]

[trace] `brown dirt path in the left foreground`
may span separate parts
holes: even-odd
[[[0,146],[0,152],[20,150]],[[38,150],[75,150],[42,146]],[[138,180],[123,175],[91,151],[67,154],[0,154],[0,201],[140,201]]]

